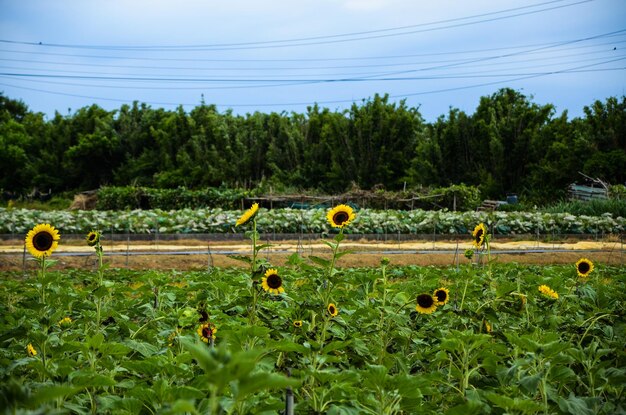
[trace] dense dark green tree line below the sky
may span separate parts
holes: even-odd
[[[134,102],[47,119],[0,94],[0,188],[24,193],[96,189],[237,187],[342,192],[478,186],[549,202],[582,172],[626,181],[626,97],[556,114],[504,88],[473,114],[451,108],[427,123],[418,108],[375,95],[344,111],[237,115],[202,102],[186,112]]]

